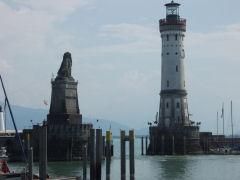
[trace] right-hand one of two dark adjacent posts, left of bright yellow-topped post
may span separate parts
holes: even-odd
[[[102,129],[96,129],[96,180],[102,177]]]

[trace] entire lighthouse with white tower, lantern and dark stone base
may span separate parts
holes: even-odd
[[[166,17],[159,20],[162,40],[159,117],[149,123],[147,154],[201,154],[199,123],[189,119],[185,80],[184,39],[186,19],[179,14],[180,4],[165,4]]]

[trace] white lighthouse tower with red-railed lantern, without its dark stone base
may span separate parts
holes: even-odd
[[[180,4],[172,1],[165,6],[166,18],[159,20],[162,38],[159,126],[189,126],[184,68],[186,19],[180,18]]]

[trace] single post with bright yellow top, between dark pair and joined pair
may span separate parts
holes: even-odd
[[[106,180],[110,180],[111,131],[106,132]]]

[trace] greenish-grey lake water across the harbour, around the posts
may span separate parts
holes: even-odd
[[[114,157],[111,161],[111,179],[120,180],[120,140],[113,139]],[[126,143],[128,152],[128,143]],[[127,157],[127,179],[129,179]],[[9,163],[11,170],[19,170],[22,163]],[[34,171],[38,164],[34,163]],[[105,161],[102,179],[105,178]],[[49,162],[48,173],[53,176],[82,176],[82,162]],[[89,177],[89,168],[88,168]],[[239,180],[240,155],[197,156],[142,156],[141,139],[135,140],[136,180]]]

